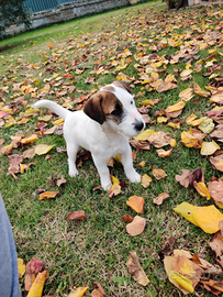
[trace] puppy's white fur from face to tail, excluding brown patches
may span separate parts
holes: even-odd
[[[116,155],[121,156],[126,177],[132,183],[140,183],[141,176],[133,168],[132,151],[129,139],[135,136],[141,131],[136,131],[134,123],[141,121],[143,128],[145,123],[134,103],[134,96],[125,89],[110,85],[112,91],[122,102],[124,117],[120,124],[112,120],[105,120],[99,124],[90,119],[82,110],[71,112],[49,100],[40,100],[34,107],[46,107],[62,117],[64,122],[64,136],[67,143],[69,175],[78,175],[76,167],[76,156],[79,146],[91,152],[92,160],[100,175],[101,186],[108,190],[111,188],[111,179],[107,160]],[[103,88],[101,90],[104,90]]]

